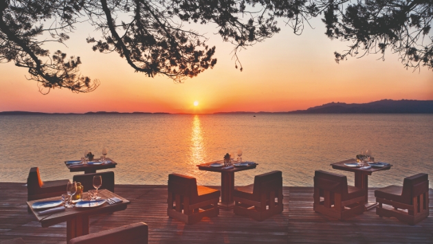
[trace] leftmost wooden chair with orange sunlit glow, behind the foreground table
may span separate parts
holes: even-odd
[[[48,197],[60,197],[66,193],[66,186],[69,179],[60,179],[57,181],[42,181],[39,175],[39,168],[30,168],[29,177],[27,177],[27,201],[45,199]],[[31,212],[30,208],[27,211]]]

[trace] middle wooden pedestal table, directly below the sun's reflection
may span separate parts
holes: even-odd
[[[210,164],[219,163],[223,164],[223,160],[210,162],[206,164],[199,164],[199,170],[206,170],[221,173],[221,202],[218,203],[219,207],[225,210],[230,210],[234,206],[233,190],[234,190],[234,173],[242,170],[249,170],[256,168],[258,164],[251,164],[249,166],[234,167],[230,169],[223,169],[211,167]],[[234,161],[235,162],[235,161]]]

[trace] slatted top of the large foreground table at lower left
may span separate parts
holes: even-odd
[[[38,212],[40,210],[34,210],[32,208],[33,203],[36,203],[38,201],[52,201],[52,200],[60,200],[61,197],[50,197],[47,199],[39,199],[34,201],[27,201],[27,206],[30,207],[32,210],[32,213],[36,219],[41,223],[42,227],[49,227],[51,225],[55,225],[57,223],[65,222],[69,219],[74,219],[78,215],[93,215],[93,214],[103,214],[107,212],[115,212],[115,211],[121,211],[126,209],[126,205],[130,203],[130,201],[124,199],[123,197],[120,197],[118,195],[115,195],[113,192],[102,189],[98,190],[98,196],[101,197],[101,199],[108,199],[111,197],[118,197],[119,199],[122,199],[122,203],[115,203],[115,204],[109,204],[104,203],[102,206],[94,207],[94,208],[66,208],[63,212],[56,212],[54,214],[47,214],[47,215],[39,215]],[[82,194],[83,199],[88,199],[88,192],[84,192]]]

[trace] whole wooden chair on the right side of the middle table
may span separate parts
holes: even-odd
[[[275,198],[278,199],[275,202]],[[254,184],[233,191],[234,214],[263,221],[282,212],[282,173],[272,171],[254,177]]]

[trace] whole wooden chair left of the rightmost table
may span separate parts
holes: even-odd
[[[348,219],[365,210],[365,190],[347,185],[347,177],[316,170],[314,175],[315,212],[334,217]],[[323,199],[323,200],[322,200]]]

